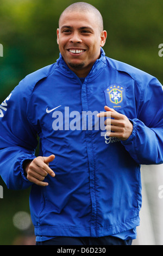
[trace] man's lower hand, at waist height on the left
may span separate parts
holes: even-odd
[[[48,174],[52,177],[55,176],[53,170],[48,166],[48,163],[52,162],[54,158],[54,155],[50,155],[48,157],[38,156],[33,161],[28,162],[24,167],[24,170],[27,173],[27,179],[36,185],[48,186],[48,183],[43,180]]]

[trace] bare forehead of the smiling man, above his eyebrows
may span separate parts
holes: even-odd
[[[62,14],[59,27],[61,28],[63,26],[92,27],[94,29],[98,27],[95,14],[90,12],[81,13],[79,11],[71,11]]]

